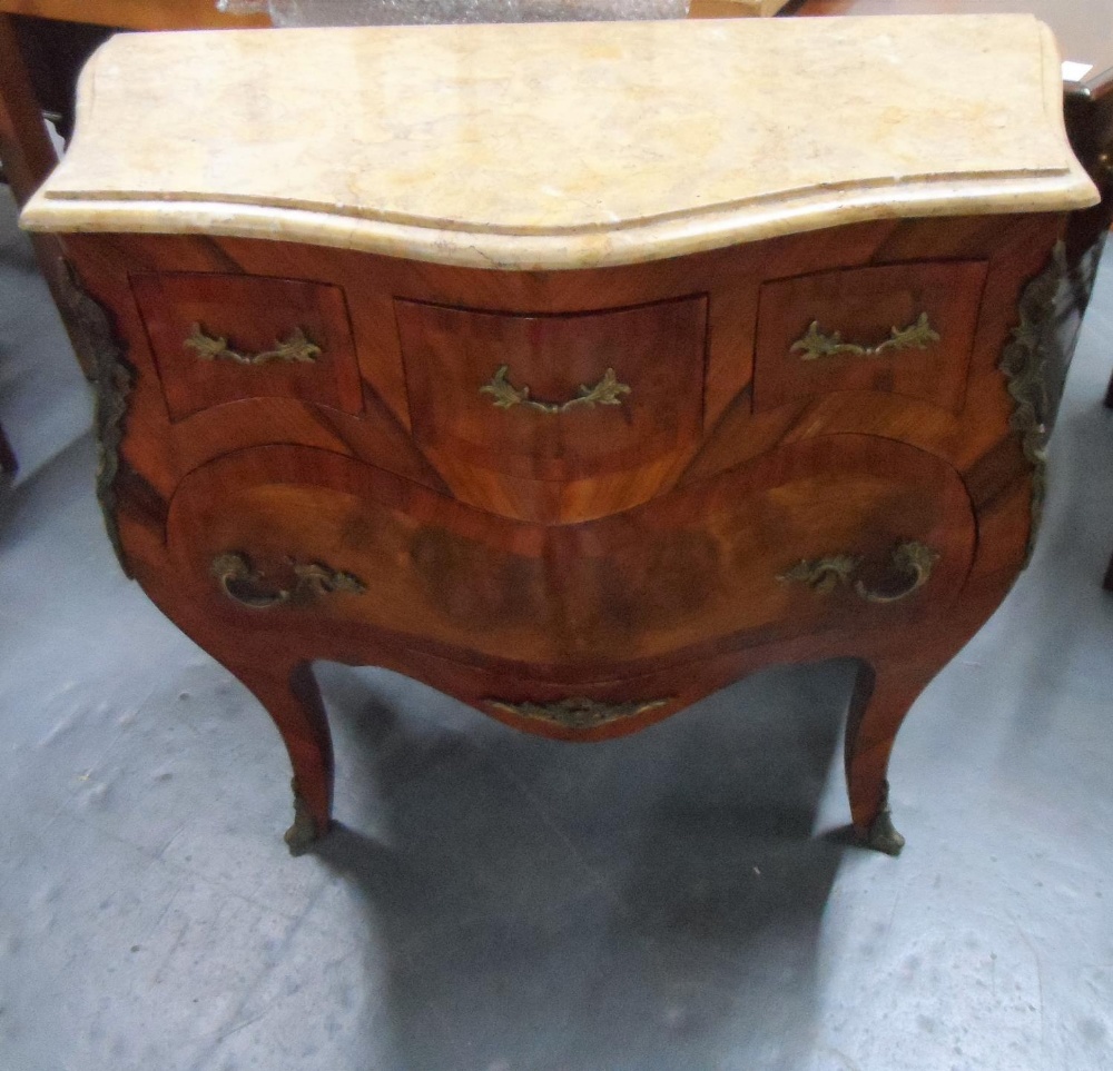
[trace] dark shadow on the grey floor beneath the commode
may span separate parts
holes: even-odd
[[[321,670],[347,824],[317,855],[366,911],[400,1068],[802,1067],[850,666],[759,674],[590,747]]]

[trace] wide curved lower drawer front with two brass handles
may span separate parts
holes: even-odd
[[[169,542],[207,613],[305,628],[309,646],[331,626],[372,626],[450,658],[605,680],[639,660],[938,609],[965,579],[974,520],[953,469],[868,436],[794,444],[569,528],[268,447],[186,477]]]

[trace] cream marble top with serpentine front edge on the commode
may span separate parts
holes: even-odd
[[[1095,204],[1027,16],[120,36],[32,230],[496,268]]]

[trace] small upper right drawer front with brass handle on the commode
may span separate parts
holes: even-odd
[[[962,409],[987,262],[900,264],[761,287],[754,408],[881,390]]]

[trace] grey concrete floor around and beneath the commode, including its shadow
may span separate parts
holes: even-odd
[[[0,191],[0,1071],[1107,1071],[1113,265],[1030,571],[847,844],[849,667],[611,744],[322,666],[343,825],[290,859],[245,690],[119,573],[89,399]]]

